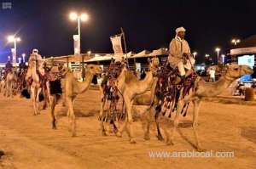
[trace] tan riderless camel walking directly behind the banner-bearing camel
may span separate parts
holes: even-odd
[[[89,89],[93,76],[101,73],[102,68],[100,65],[86,65],[84,82],[79,82],[73,75],[73,72],[70,70],[67,70],[64,79],[61,80],[61,88],[63,93],[62,99],[64,99],[64,102],[67,104],[67,118],[73,137],[76,136],[76,117],[73,111],[74,99],[78,96],[78,94],[85,93]],[[52,116],[52,128],[56,129],[55,105],[58,102],[58,95],[49,94],[49,98],[50,112]]]

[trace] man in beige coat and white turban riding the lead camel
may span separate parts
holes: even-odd
[[[185,31],[183,27],[176,29],[176,36],[170,43],[170,54],[168,56],[169,64],[173,69],[178,69],[182,80],[189,75],[195,65],[195,59],[190,53],[189,43],[184,39]]]

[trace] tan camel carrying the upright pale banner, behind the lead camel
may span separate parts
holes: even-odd
[[[128,132],[128,135],[130,137],[130,143],[136,144],[136,140],[133,135],[132,130],[132,103],[133,99],[139,95],[147,92],[147,90],[152,87],[154,83],[154,71],[157,69],[157,66],[159,65],[159,59],[154,58],[152,59],[152,62],[150,63],[150,70],[147,72],[147,75],[145,79],[142,81],[137,80],[137,76],[132,74],[129,70],[126,69],[126,67],[123,68],[120,75],[118,76],[116,80],[116,86],[119,90],[119,93],[122,94],[124,102],[125,102],[125,109],[126,109],[126,118],[125,118],[125,125],[123,127],[120,127],[117,132],[117,136],[121,137],[122,132],[126,128],[126,131]],[[102,89],[100,89],[102,93]],[[103,95],[103,94],[101,94]],[[102,100],[104,101],[104,100]],[[103,125],[103,107],[104,102],[102,103],[102,109],[100,112],[100,119],[101,121],[101,127],[102,127],[102,134],[106,135],[106,130],[104,129]]]

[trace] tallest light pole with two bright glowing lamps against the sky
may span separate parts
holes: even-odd
[[[88,14],[77,14],[77,13],[70,13],[69,14],[70,20],[77,20],[78,21],[78,33],[79,33],[79,44],[78,44],[78,54],[81,54],[81,31],[80,31],[80,21],[87,21],[89,20]]]

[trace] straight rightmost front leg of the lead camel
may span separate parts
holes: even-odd
[[[194,102],[193,131],[194,131],[194,135],[195,135],[195,146],[196,146],[197,150],[201,150],[201,144],[198,140],[198,133],[197,133],[198,114],[199,114],[199,109],[200,109],[200,105],[201,105],[201,100],[196,99],[193,102]]]

